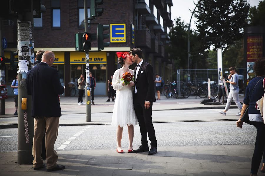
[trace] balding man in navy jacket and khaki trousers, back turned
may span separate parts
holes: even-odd
[[[33,169],[45,167],[41,157],[42,138],[45,133],[47,171],[62,170],[57,165],[58,155],[54,150],[59,129],[59,117],[62,116],[58,94],[64,93],[59,80],[59,72],[52,68],[54,53],[45,51],[42,62],[27,73],[27,93],[32,96],[32,117],[34,117],[34,137],[32,145]]]

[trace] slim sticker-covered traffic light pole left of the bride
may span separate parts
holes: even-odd
[[[85,32],[88,32],[88,21],[87,21],[87,0],[84,0],[84,23],[85,23]],[[86,86],[85,86],[85,92],[86,92],[86,121],[91,122],[91,95],[90,95],[90,69],[89,69],[89,51],[85,51],[86,55]]]

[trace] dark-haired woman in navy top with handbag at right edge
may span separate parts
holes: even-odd
[[[265,91],[265,59],[258,59],[254,65],[257,77],[252,79],[246,87],[244,104],[240,119],[236,122],[237,127],[242,128],[243,122],[254,125],[257,128],[255,149],[251,162],[251,176],[256,176],[263,153],[263,165],[261,172],[265,173],[265,125],[263,117],[257,107],[257,101],[261,99]]]

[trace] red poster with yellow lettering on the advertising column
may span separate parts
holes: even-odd
[[[262,36],[249,36],[247,38],[247,62],[255,62],[262,58]]]

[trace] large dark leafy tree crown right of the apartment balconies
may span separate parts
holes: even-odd
[[[243,36],[249,12],[247,0],[201,0],[194,16],[200,41],[209,49],[226,49]],[[206,49],[206,48],[205,48]]]

